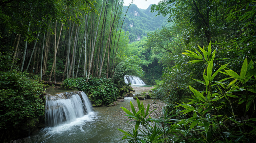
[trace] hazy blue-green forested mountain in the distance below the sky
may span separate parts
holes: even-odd
[[[128,6],[123,6],[123,17],[127,8]],[[155,17],[157,13],[151,13],[150,8],[151,5],[147,9],[139,9],[135,4],[131,4],[128,9],[123,29],[129,32],[130,43],[147,36],[147,32],[169,25],[168,16]]]

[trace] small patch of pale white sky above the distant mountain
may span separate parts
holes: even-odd
[[[132,0],[124,0],[124,6],[129,6]],[[150,4],[158,4],[160,0],[133,0],[133,4],[135,4],[139,9],[147,9]]]

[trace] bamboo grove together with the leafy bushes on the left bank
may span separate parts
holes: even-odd
[[[129,33],[122,30],[122,4],[120,0],[0,2],[1,142],[17,138],[21,135],[15,136],[17,132],[32,132],[30,121],[44,110],[39,80],[82,79],[84,84],[95,84],[91,99],[107,105],[126,91],[124,74],[143,75],[140,66],[123,65],[134,57],[122,54],[129,43]],[[77,89],[87,91],[80,85]],[[23,128],[21,122],[24,132],[18,130]]]

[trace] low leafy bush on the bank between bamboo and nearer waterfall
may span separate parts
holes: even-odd
[[[86,82],[86,78],[66,79],[62,87],[84,91],[96,106],[108,105],[118,96],[117,85],[112,79],[106,78],[90,77],[88,82]]]

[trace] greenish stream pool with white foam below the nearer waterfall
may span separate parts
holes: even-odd
[[[60,89],[48,89],[46,93],[54,95],[55,93],[67,92]],[[56,94],[53,96],[55,97]],[[59,95],[58,95],[59,96]],[[77,96],[74,98],[78,99]],[[64,99],[60,99],[64,100]],[[67,99],[65,99],[67,100]],[[69,98],[68,100],[72,100]],[[127,123],[127,117],[120,107],[130,108],[130,101],[137,107],[137,102],[133,98],[125,98],[124,102],[117,102],[116,106],[94,107],[92,112],[72,119],[69,122],[58,122],[51,126],[41,129],[30,137],[20,139],[19,142],[30,143],[124,143],[121,140],[122,133],[117,128],[132,132],[134,124]],[[73,102],[73,101],[70,101]],[[150,99],[143,100],[143,104],[152,103]],[[85,103],[85,101],[83,101]],[[81,104],[81,103],[76,103]],[[57,105],[62,107],[62,105]],[[69,107],[71,108],[71,107]],[[83,107],[87,108],[87,107]],[[80,109],[79,109],[80,110]],[[74,111],[75,112],[75,111]],[[72,114],[72,113],[70,113]]]

